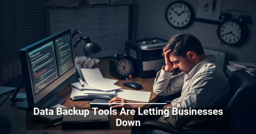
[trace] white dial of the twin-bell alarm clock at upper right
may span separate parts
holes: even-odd
[[[222,42],[235,44],[241,39],[241,27],[236,22],[225,21],[219,27],[218,34],[221,36]]]

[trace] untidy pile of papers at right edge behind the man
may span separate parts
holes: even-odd
[[[231,62],[228,61],[229,65],[227,65],[227,69],[231,72],[236,70],[244,70],[248,72],[253,77],[256,77],[256,64],[254,63],[246,63],[246,62]]]

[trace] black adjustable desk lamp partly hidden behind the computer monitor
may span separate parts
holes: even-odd
[[[84,52],[85,56],[97,54],[98,52],[101,51],[101,48],[98,43],[92,42],[89,36],[86,36],[86,37],[83,36],[83,34],[78,29],[75,29],[74,33],[72,33],[72,39],[76,34],[79,34],[81,36],[79,37],[78,41],[73,45],[74,49],[82,40],[84,40],[85,44],[84,44],[83,52]],[[16,96],[17,96],[18,92],[20,91],[20,88],[21,88],[21,85],[23,84],[23,82],[24,82],[24,80],[22,78],[18,87],[14,91],[12,98],[10,98],[10,101],[12,103],[17,102]]]

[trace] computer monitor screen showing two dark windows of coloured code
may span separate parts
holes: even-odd
[[[34,94],[74,67],[69,33],[29,51]]]

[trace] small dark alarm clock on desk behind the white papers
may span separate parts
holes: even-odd
[[[124,55],[115,54],[109,59],[109,73],[110,75],[118,78],[124,79],[128,78],[134,72],[134,64],[130,57]]]

